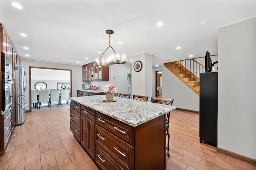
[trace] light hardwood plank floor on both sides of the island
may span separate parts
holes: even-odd
[[[167,170],[249,169],[256,166],[199,143],[199,114],[175,110],[170,117],[170,158]],[[0,170],[98,169],[70,131],[70,108],[57,107],[25,114],[14,128]]]

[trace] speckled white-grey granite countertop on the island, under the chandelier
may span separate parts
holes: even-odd
[[[120,97],[114,97],[114,99],[117,99],[116,102],[104,102],[103,100],[106,99],[105,95],[71,97],[70,99],[132,127],[141,125],[176,109],[175,106]]]

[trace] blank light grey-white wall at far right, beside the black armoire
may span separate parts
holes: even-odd
[[[256,17],[218,29],[218,147],[256,159]]]

